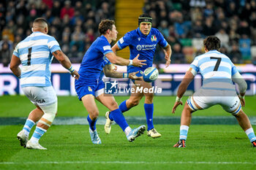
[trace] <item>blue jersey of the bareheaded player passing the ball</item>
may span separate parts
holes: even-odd
[[[83,56],[83,61],[78,71],[80,74],[79,80],[99,80],[103,67],[108,63],[108,61],[105,60],[105,55],[108,53],[113,53],[108,39],[106,39],[105,36],[99,36]]]

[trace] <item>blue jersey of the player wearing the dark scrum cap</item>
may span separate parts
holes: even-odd
[[[143,71],[152,66],[157,44],[161,47],[166,47],[168,45],[164,36],[162,36],[157,28],[151,28],[151,31],[147,36],[141,33],[140,28],[137,28],[133,31],[129,31],[117,42],[120,49],[129,46],[129,59],[132,60],[140,54],[139,59],[146,60],[147,65],[140,68],[140,70]],[[127,66],[127,69],[128,72],[133,72],[132,69],[137,70],[138,68],[135,66]]]

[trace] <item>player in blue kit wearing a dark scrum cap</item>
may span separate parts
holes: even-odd
[[[127,72],[138,72],[144,71],[148,67],[151,67],[153,64],[154,53],[156,51],[157,44],[159,44],[165,52],[166,67],[170,65],[170,55],[172,53],[170,45],[168,45],[164,36],[157,30],[157,28],[151,28],[152,18],[148,14],[140,15],[138,18],[139,27],[133,31],[129,31],[121,39],[118,40],[116,45],[112,47],[114,53],[118,50],[122,50],[125,47],[129,46],[130,59],[136,57],[140,54],[140,60],[146,60],[147,65],[142,67],[127,66]],[[138,77],[142,76],[142,72],[137,74]],[[135,83],[132,88],[143,87],[143,88],[152,88],[151,83],[145,82],[143,80],[132,80]],[[153,97],[154,93],[132,93],[128,100],[123,101],[119,108],[121,112],[127,112],[132,107],[135,107],[139,104],[140,99],[145,96],[144,109],[146,113],[146,121],[148,125],[147,134],[152,138],[160,137],[159,134],[153,125],[153,112],[154,104]],[[105,132],[110,134],[111,123],[113,117],[111,112],[106,112],[106,123],[105,123]]]

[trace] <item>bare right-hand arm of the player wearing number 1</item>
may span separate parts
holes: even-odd
[[[72,63],[69,61],[67,55],[65,55],[61,50],[56,50],[53,52],[53,56],[64,66],[65,69],[69,70],[72,77],[75,77],[76,80],[79,79],[78,72],[73,68]]]

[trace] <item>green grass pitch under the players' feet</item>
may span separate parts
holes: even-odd
[[[187,97],[184,97],[183,101]],[[127,96],[116,97],[118,104]],[[244,111],[256,116],[255,96],[246,96]],[[172,116],[175,97],[154,98],[155,116]],[[27,117],[33,104],[24,96],[1,96],[1,117]],[[106,108],[97,103],[99,114]],[[176,116],[181,115],[183,106]],[[129,116],[144,116],[143,101],[127,112]],[[221,107],[211,107],[193,116],[230,116]],[[58,116],[87,116],[77,98],[59,97]],[[132,128],[138,125],[131,125]],[[0,169],[255,169],[256,148],[253,148],[239,125],[191,125],[187,148],[174,148],[179,125],[155,125],[162,134],[151,139],[146,134],[128,142],[118,125],[105,134],[97,125],[102,144],[91,143],[89,125],[52,125],[40,139],[48,150],[27,150],[20,147],[16,135],[23,125],[0,125]],[[253,125],[256,129],[256,125]],[[32,129],[34,131],[34,128]]]

